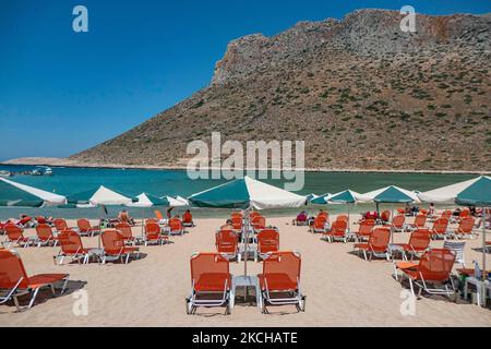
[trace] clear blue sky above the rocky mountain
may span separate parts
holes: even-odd
[[[89,33],[72,31],[84,4]],[[227,43],[356,9],[491,12],[491,1],[1,0],[0,160],[63,157],[206,86]]]

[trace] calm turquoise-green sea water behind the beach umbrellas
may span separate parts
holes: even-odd
[[[21,172],[32,170],[31,166],[0,166],[0,170]],[[13,181],[33,185],[49,192],[70,195],[98,185],[106,185],[128,195],[139,195],[147,192],[154,195],[181,195],[187,197],[193,193],[225,183],[225,180],[190,180],[185,171],[181,170],[137,170],[137,169],[93,169],[93,168],[53,168],[53,177],[15,176]],[[369,192],[386,185],[399,185],[408,190],[427,191],[442,185],[465,181],[476,176],[472,174],[420,174],[420,173],[340,173],[340,172],[308,172],[306,173],[306,185],[298,194],[324,194],[336,193],[345,189],[351,189],[360,193]],[[270,184],[283,186],[283,181],[264,180]],[[110,215],[116,215],[120,208],[109,208]],[[164,208],[165,209],[165,208]],[[312,207],[311,210],[319,209]],[[332,205],[330,212],[346,210],[344,205]],[[371,209],[370,205],[360,205],[351,208],[356,212]],[[178,210],[179,212],[179,210]],[[20,214],[47,215],[65,218],[101,216],[100,208],[67,209],[67,208],[0,208],[0,219],[17,217]],[[130,209],[134,216],[151,216],[153,209]],[[272,210],[270,215],[294,215],[295,210]],[[194,209],[196,216],[225,217],[228,212],[212,209]]]

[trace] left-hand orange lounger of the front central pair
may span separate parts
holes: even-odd
[[[191,296],[185,299],[189,315],[199,306],[226,306],[230,313],[230,264],[219,253],[194,253],[191,256]]]

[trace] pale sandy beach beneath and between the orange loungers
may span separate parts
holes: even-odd
[[[334,217],[332,217],[334,218]],[[351,217],[351,221],[358,219]],[[291,218],[272,218],[279,228],[282,250],[302,255],[301,282],[307,294],[307,311],[294,306],[270,308],[264,315],[250,304],[236,304],[231,315],[221,309],[200,309],[187,315],[184,298],[190,292],[189,257],[193,252],[212,252],[214,232],[220,219],[199,219],[183,237],[172,237],[171,244],[141,246],[141,260],[128,265],[56,266],[52,256],[59,248],[16,249],[27,274],[69,273],[70,290],[59,298],[40,298],[36,305],[15,313],[15,306],[0,305],[0,326],[491,326],[488,309],[458,299],[423,296],[417,301],[416,315],[403,316],[400,292],[405,289],[392,278],[393,264],[366,262],[352,254],[352,243],[327,243],[307,227],[291,226]],[[412,218],[408,218],[412,221]],[[74,225],[74,221],[69,221]],[[139,234],[141,227],[135,227]],[[352,226],[352,229],[357,229]],[[34,234],[33,229],[27,234]],[[396,233],[396,242],[406,242],[408,233]],[[481,261],[480,240],[466,240],[467,266]],[[97,238],[84,238],[86,246],[96,246]],[[433,241],[432,246],[441,246]],[[488,255],[488,265],[491,258]],[[243,263],[231,263],[231,273],[243,273]],[[261,270],[261,263],[249,263],[250,274]],[[75,316],[73,291],[88,294],[88,315]],[[47,293],[49,294],[49,292]]]

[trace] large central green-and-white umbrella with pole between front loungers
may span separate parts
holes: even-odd
[[[267,209],[300,207],[307,204],[307,197],[260,182],[248,176],[188,197],[196,207]],[[244,275],[248,275],[249,229],[246,231]]]

